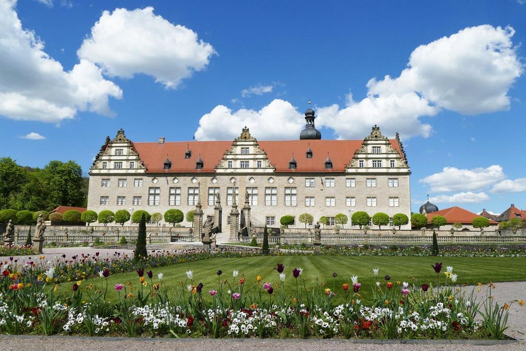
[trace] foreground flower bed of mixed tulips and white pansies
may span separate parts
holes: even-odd
[[[435,289],[431,282],[392,282],[373,269],[378,282],[367,287],[369,292],[358,276],[338,287],[307,286],[308,273],[278,264],[273,282],[237,270],[225,278],[218,270],[217,285],[210,287],[194,280],[191,270],[180,284],[169,286],[162,272],[144,268],[137,269],[136,283],[108,286],[111,272],[104,268],[98,272],[103,288],[78,280],[67,283],[69,293],[61,295],[55,267],[42,280],[27,274],[33,267],[6,268],[0,278],[0,332],[7,334],[503,339],[514,303],[494,303],[491,283],[485,298],[481,284],[462,288],[452,267],[440,273],[440,263],[432,265]],[[294,293],[285,293],[286,285]],[[108,289],[119,294],[115,304],[106,302]],[[369,305],[362,304],[366,294]]]

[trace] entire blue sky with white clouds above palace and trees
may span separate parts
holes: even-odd
[[[519,1],[0,0],[0,16],[0,156],[19,164],[87,172],[119,128],[134,141],[232,139],[245,124],[296,138],[310,98],[323,138],[401,133],[413,210],[426,194],[526,208]]]

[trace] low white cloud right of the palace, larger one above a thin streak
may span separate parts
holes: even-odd
[[[472,169],[444,167],[442,172],[420,179],[419,182],[429,185],[431,192],[456,192],[480,190],[505,177],[502,167],[499,165]]]

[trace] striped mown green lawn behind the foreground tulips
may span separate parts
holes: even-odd
[[[268,256],[247,258],[211,258],[193,263],[177,264],[173,266],[158,267],[153,269],[153,282],[158,282],[157,273],[164,274],[166,285],[171,288],[179,282],[185,283],[186,271],[193,270],[194,283],[204,284],[203,292],[208,295],[208,290],[217,289],[217,270],[222,270],[221,278],[233,282],[232,270],[239,270],[238,279],[244,276],[246,279],[245,289],[256,285],[256,276],[262,276],[262,282],[279,283],[278,273],[274,267],[278,263],[285,265],[286,289],[290,294],[295,291],[295,280],[292,277],[292,269],[300,267],[304,269],[301,278],[305,279],[307,286],[314,286],[318,282],[326,282],[332,289],[336,283],[336,293],[341,294],[341,285],[351,285],[351,276],[357,275],[362,284],[361,292],[370,295],[371,287],[378,280],[385,282],[383,276],[391,276],[391,281],[406,281],[410,284],[422,284],[436,282],[436,274],[431,264],[442,262],[442,272],[446,266],[453,266],[453,273],[458,274],[457,284],[477,284],[488,282],[509,282],[526,280],[526,258],[517,257],[385,257],[385,256]],[[372,268],[379,268],[378,278],[373,276]],[[146,269],[148,270],[148,269]],[[332,273],[337,273],[337,278]],[[146,273],[145,273],[146,276]],[[440,275],[443,281],[444,275]],[[415,280],[417,279],[418,282]],[[237,280],[237,279],[236,279]],[[86,280],[82,287],[90,283],[97,287],[102,286],[104,279],[93,278]],[[115,300],[118,294],[113,286],[117,283],[131,282],[139,286],[137,273],[123,273],[111,275],[108,278],[107,299]],[[147,279],[150,284],[149,279]],[[60,292],[69,294],[73,283],[60,285]],[[190,284],[187,282],[187,284]],[[149,287],[148,287],[149,288]],[[294,290],[293,290],[294,288]],[[367,299],[367,296],[364,296]]]

